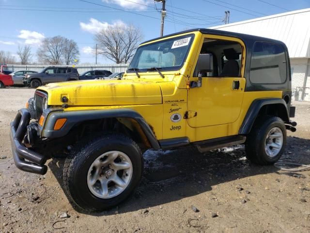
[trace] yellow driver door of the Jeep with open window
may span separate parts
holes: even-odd
[[[188,118],[187,124],[207,128],[233,123],[240,115],[246,83],[245,45],[237,38],[205,35],[200,48],[189,78],[187,100],[187,109],[197,115]],[[201,87],[197,87],[199,73]]]

